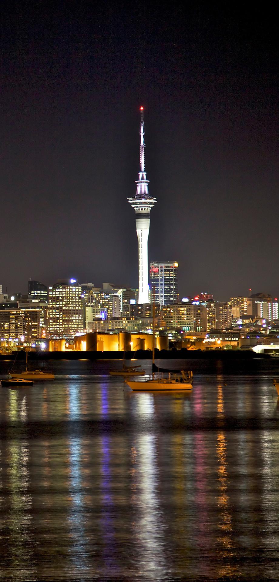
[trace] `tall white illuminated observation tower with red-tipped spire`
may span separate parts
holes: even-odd
[[[150,210],[157,200],[149,196],[149,180],[146,179],[146,171],[144,168],[143,107],[140,108],[140,172],[136,184],[136,196],[134,198],[128,198],[128,202],[135,208],[137,238],[139,239],[139,303],[149,303],[148,235]]]

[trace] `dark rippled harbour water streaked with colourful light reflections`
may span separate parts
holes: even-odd
[[[0,579],[278,580],[273,375],[132,393],[114,366],[0,387]]]

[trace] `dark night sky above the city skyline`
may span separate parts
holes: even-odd
[[[1,11],[3,291],[69,276],[138,285],[127,198],[143,105],[149,261],[179,262],[181,296],[279,296],[270,6],[9,0]]]

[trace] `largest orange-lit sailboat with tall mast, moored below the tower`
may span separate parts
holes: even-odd
[[[152,342],[152,379],[144,379],[143,382],[137,380],[125,379],[126,384],[132,390],[192,390],[193,388],[193,372],[185,372],[181,370],[181,376],[177,374],[168,373],[168,378],[154,378],[155,366],[155,289],[153,288],[153,342]]]

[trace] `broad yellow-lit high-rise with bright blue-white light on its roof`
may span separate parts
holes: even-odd
[[[61,279],[48,288],[48,333],[73,336],[83,331],[82,288],[76,279]]]

